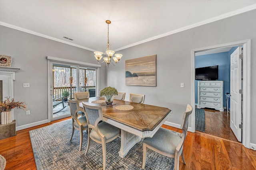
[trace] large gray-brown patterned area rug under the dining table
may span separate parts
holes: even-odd
[[[37,170],[100,170],[102,169],[102,145],[91,140],[87,156],[87,133],[84,131],[82,151],[79,151],[79,132],[74,131],[72,120],[61,121],[29,131]],[[125,158],[118,156],[120,138],[106,144],[106,170],[142,170],[143,143],[140,141]],[[174,159],[148,150],[146,170],[173,170]]]

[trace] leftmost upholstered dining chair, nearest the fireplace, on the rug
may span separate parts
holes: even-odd
[[[68,99],[68,102],[69,102],[70,113],[71,113],[71,117],[72,117],[72,126],[73,126],[70,141],[72,140],[72,137],[74,135],[74,129],[78,130],[79,133],[80,133],[79,151],[81,151],[82,150],[82,143],[83,143],[83,131],[88,129],[87,120],[86,120],[86,117],[84,115],[84,112],[79,111],[79,102],[78,102],[78,100]],[[78,117],[78,115],[84,115],[84,116]]]

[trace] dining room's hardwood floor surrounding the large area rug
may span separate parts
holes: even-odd
[[[5,170],[36,170],[28,131],[70,119],[17,131],[17,135],[0,140],[0,154],[6,158]],[[181,129],[163,125],[181,133]],[[242,144],[203,133],[190,133],[184,142],[186,165],[180,158],[180,170],[255,170],[256,151]]]

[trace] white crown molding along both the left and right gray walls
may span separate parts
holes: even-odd
[[[167,32],[167,33],[163,33],[163,34],[160,34],[160,35],[157,35],[157,36],[154,36],[154,37],[151,37],[151,38],[148,38],[148,39],[145,39],[143,41],[138,41],[136,43],[132,43],[130,45],[126,45],[124,47],[120,47],[118,49],[114,49],[114,51],[120,51],[122,49],[126,49],[126,48],[129,48],[129,47],[133,47],[135,45],[139,45],[139,44],[142,44],[142,43],[146,43],[148,41],[152,41],[154,39],[158,39],[158,38],[161,38],[161,37],[165,37],[165,36],[168,36],[168,35],[172,35],[174,33],[178,33],[178,32],[181,32],[181,31],[185,31],[185,30],[188,30],[188,29],[191,29],[191,28],[194,28],[194,27],[198,27],[200,25],[204,25],[204,24],[207,24],[207,23],[211,23],[211,22],[214,22],[214,21],[218,21],[218,20],[222,20],[224,18],[228,18],[228,17],[231,17],[231,16],[235,16],[235,15],[238,15],[238,14],[242,14],[244,12],[248,12],[248,11],[251,11],[251,10],[255,10],[256,9],[256,4],[253,4],[251,6],[246,6],[244,8],[241,8],[241,9],[238,9],[238,10],[235,10],[235,11],[232,11],[232,12],[228,12],[226,14],[222,14],[220,16],[216,16],[216,17],[213,17],[213,18],[209,18],[207,20],[204,20],[204,21],[200,21],[200,22],[197,22],[197,23],[194,23],[194,24],[191,24],[191,25],[187,25],[185,27],[181,27],[179,29],[175,29],[173,31],[170,31],[170,32]],[[84,47],[84,46],[81,46],[81,45],[77,45],[77,44],[74,44],[74,43],[70,43],[70,42],[67,42],[67,41],[64,41],[64,40],[61,40],[61,39],[57,39],[57,38],[54,38],[54,37],[50,37],[48,35],[44,35],[44,34],[41,34],[41,33],[38,33],[38,32],[35,32],[35,31],[31,31],[29,29],[25,29],[25,28],[22,28],[22,27],[18,27],[16,25],[12,25],[12,24],[9,24],[9,23],[5,23],[5,22],[2,22],[0,21],[0,25],[3,25],[3,26],[6,26],[6,27],[10,27],[10,28],[13,28],[13,29],[17,29],[17,30],[20,30],[20,31],[23,31],[23,32],[26,32],[26,33],[30,33],[30,34],[33,34],[33,35],[38,35],[40,37],[44,37],[44,38],[47,38],[47,39],[51,39],[51,40],[54,40],[54,41],[58,41],[60,43],[64,43],[64,44],[68,44],[68,45],[72,45],[74,47],[78,47],[78,48],[81,48],[81,49],[86,49],[86,50],[89,50],[89,51],[96,51],[94,49],[90,49],[90,48],[87,48],[87,47]]]

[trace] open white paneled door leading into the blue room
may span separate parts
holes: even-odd
[[[236,135],[238,141],[241,142],[241,69],[242,60],[239,55],[242,53],[242,47],[238,47],[230,56],[230,128]]]

